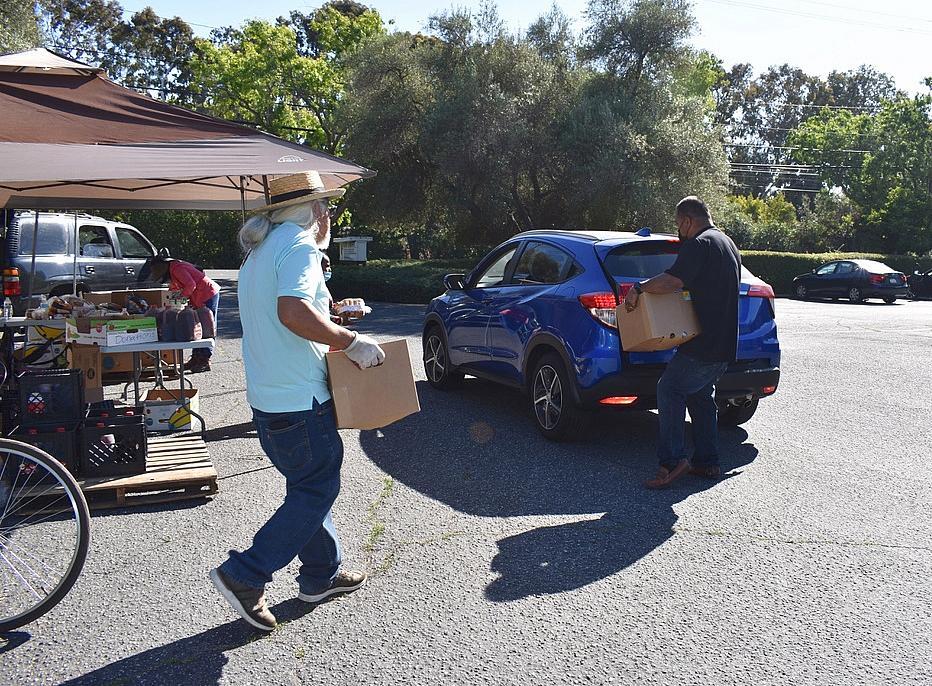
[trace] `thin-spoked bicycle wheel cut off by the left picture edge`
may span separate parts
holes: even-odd
[[[61,463],[0,439],[0,633],[65,597],[84,566],[89,527],[84,494]]]

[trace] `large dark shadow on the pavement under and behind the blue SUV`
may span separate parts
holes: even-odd
[[[673,535],[673,506],[715,482],[683,477],[664,491],[643,482],[656,470],[657,417],[602,414],[583,443],[551,443],[523,395],[467,379],[442,393],[418,383],[422,410],[363,431],[368,457],[387,474],[460,512],[483,517],[579,515],[498,541],[485,589],[496,602],[561,593],[604,579]],[[719,434],[723,471],[757,456],[741,429]]]

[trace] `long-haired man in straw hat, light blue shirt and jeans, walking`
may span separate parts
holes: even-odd
[[[240,229],[248,253],[239,276],[246,397],[259,443],[285,477],[284,502],[259,529],[252,546],[232,550],[210,578],[240,616],[271,631],[275,616],[265,584],[295,557],[301,560],[298,598],[316,603],[355,591],[362,572],[342,570],[331,507],[340,491],[343,442],[327,387],[328,347],[360,368],[381,364],[376,341],[330,319],[321,251],[330,242],[327,190],[316,172],[269,183],[270,204]]]

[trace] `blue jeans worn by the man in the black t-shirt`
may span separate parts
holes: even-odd
[[[715,383],[727,362],[704,362],[677,352],[657,382],[660,436],[657,459],[672,469],[686,458],[686,408],[693,422],[693,466],[718,466],[718,406]]]

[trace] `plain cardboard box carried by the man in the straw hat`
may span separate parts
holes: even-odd
[[[385,362],[371,369],[360,369],[342,351],[327,353],[340,429],[379,429],[421,409],[407,342],[380,345]]]

